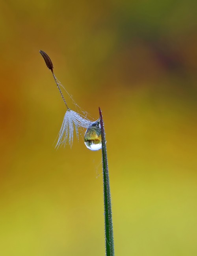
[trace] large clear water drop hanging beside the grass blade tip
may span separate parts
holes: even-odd
[[[85,146],[90,150],[99,150],[102,147],[100,119],[91,123],[84,135]]]

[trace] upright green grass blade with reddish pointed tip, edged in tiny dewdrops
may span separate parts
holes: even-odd
[[[105,218],[105,255],[114,256],[110,178],[109,178],[109,172],[108,172],[108,158],[107,158],[107,150],[106,150],[104,123],[103,123],[100,108],[99,108],[99,116],[100,116],[101,138],[102,138],[102,173],[103,173],[103,193],[104,193],[104,218]]]

